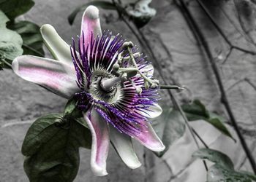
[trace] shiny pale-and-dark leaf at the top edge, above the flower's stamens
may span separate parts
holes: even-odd
[[[137,1],[133,6],[134,8],[128,11],[128,15],[132,18],[138,28],[142,28],[146,25],[157,13],[156,9],[148,6],[150,3],[151,1]]]

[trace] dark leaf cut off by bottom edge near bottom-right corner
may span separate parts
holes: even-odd
[[[213,165],[207,173],[207,182],[252,182],[252,178],[243,173],[229,170],[221,165]]]

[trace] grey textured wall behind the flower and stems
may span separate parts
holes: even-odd
[[[56,28],[59,35],[67,42],[72,36],[80,32],[80,17],[70,26],[67,15],[85,0],[35,0],[36,5],[26,15],[20,18],[31,20],[42,25],[49,23]],[[220,1],[222,2],[222,1]],[[214,6],[208,3],[207,6]],[[186,85],[190,92],[175,93],[183,102],[192,98],[200,98],[211,110],[227,118],[227,127],[236,137],[233,128],[228,124],[225,108],[219,102],[219,90],[211,66],[202,54],[195,37],[183,15],[172,1],[153,1],[152,7],[157,9],[157,15],[141,31],[151,44],[161,71],[167,82],[176,82]],[[225,58],[230,47],[216,28],[206,20],[208,17],[200,10],[195,1],[189,1],[192,11],[200,29],[207,37],[213,55]],[[222,7],[213,8],[215,20],[225,32],[232,44],[244,47],[247,50],[256,50],[253,44],[247,43],[241,26],[238,24],[236,9],[232,1],[225,1]],[[216,12],[214,12],[216,11]],[[102,29],[121,33],[125,38],[136,41],[135,36],[124,23],[118,20],[116,12],[102,10]],[[106,23],[108,22],[108,23]],[[47,54],[50,57],[49,54]],[[222,80],[225,84],[228,99],[238,120],[246,142],[256,157],[256,62],[255,56],[238,50],[233,50],[229,58],[217,60]],[[155,64],[155,63],[154,63]],[[158,75],[156,71],[156,75]],[[42,87],[20,79],[12,71],[0,71],[0,124],[12,122],[31,122],[39,116],[48,113],[58,113],[63,110],[67,100],[59,98]],[[166,92],[161,93],[161,103],[166,105],[168,100]],[[192,127],[203,137],[212,149],[219,149],[228,154],[236,164],[238,170],[251,170],[239,141],[234,143],[209,124],[197,121],[191,123]],[[29,124],[15,124],[0,129],[0,177],[2,182],[26,182],[23,172],[23,156],[20,153],[23,137]],[[148,181],[148,182],[203,182],[206,181],[206,172],[200,160],[192,159],[191,154],[197,148],[186,130],[183,137],[178,139],[169,151],[159,159],[151,151],[143,149],[136,143],[136,151],[143,166],[130,170],[118,155],[110,149],[108,157],[108,173],[105,177],[95,177],[90,170],[90,151],[81,150],[80,170],[76,182],[105,182],[105,181]],[[143,154],[145,152],[145,156]]]

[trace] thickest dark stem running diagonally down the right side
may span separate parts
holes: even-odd
[[[252,166],[252,170],[256,174],[255,159],[252,157],[252,154],[249,151],[249,147],[247,146],[246,141],[244,140],[244,136],[241,134],[241,132],[238,128],[236,118],[233,114],[233,111],[230,107],[230,103],[227,99],[227,95],[226,95],[226,92],[225,92],[225,89],[224,89],[224,86],[223,86],[223,83],[222,83],[222,79],[221,79],[221,76],[219,74],[219,69],[217,67],[217,64],[215,63],[215,59],[211,55],[211,51],[210,51],[210,48],[208,47],[208,43],[206,42],[206,39],[205,39],[201,29],[199,28],[199,26],[195,22],[194,18],[192,17],[191,13],[189,12],[189,9],[187,8],[186,4],[184,4],[184,1],[183,0],[176,0],[176,4],[178,5],[178,7],[180,7],[182,14],[184,15],[185,19],[187,20],[189,28],[192,29],[192,33],[194,33],[195,39],[197,39],[197,41],[198,41],[198,44],[201,45],[201,48],[203,48],[204,52],[206,52],[208,60],[211,64],[211,68],[214,71],[214,75],[217,79],[217,84],[219,86],[219,91],[221,92],[221,102],[227,110],[227,114],[230,117],[230,122],[233,124],[233,127],[236,130],[236,133],[237,133],[238,138],[241,142],[241,145],[243,146],[244,151],[246,153],[246,156],[249,159],[249,162]]]

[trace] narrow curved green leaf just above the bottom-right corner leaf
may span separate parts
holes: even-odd
[[[213,149],[199,149],[195,151],[193,157],[208,159],[211,162],[217,163],[218,165],[230,170],[233,170],[234,168],[233,162],[226,154]]]

